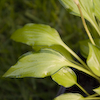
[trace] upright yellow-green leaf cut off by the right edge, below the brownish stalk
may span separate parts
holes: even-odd
[[[87,64],[94,74],[100,76],[100,50],[90,43]]]

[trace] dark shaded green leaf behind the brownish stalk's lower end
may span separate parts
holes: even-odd
[[[89,54],[89,46],[88,43],[90,42],[89,39],[87,40],[83,40],[79,42],[79,46],[80,46],[80,53],[82,54],[82,56],[84,58],[87,58],[88,54]],[[94,39],[94,42],[96,43],[96,45],[98,47],[100,47],[100,39]]]

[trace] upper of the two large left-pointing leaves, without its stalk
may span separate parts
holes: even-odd
[[[62,42],[58,32],[48,25],[27,24],[16,30],[11,39],[30,46],[51,46]]]

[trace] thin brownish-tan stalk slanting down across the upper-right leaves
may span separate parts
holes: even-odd
[[[77,7],[78,7],[78,9],[79,9],[79,12],[80,12],[80,15],[81,15],[81,19],[82,19],[84,28],[85,28],[85,30],[86,30],[86,32],[87,32],[87,35],[88,35],[88,37],[89,37],[91,43],[92,43],[93,45],[95,45],[95,42],[94,42],[94,40],[93,40],[93,38],[92,38],[92,36],[91,36],[91,33],[90,33],[89,30],[88,30],[88,27],[87,27],[87,25],[86,25],[85,19],[84,19],[84,17],[83,17],[83,14],[82,14],[81,7],[80,7],[80,5],[79,5],[79,2],[78,2],[78,0],[74,0],[74,2],[76,3],[76,5],[77,5]]]

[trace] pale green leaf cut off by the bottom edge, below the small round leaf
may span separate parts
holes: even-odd
[[[85,100],[85,99],[82,95],[78,93],[65,93],[56,97],[54,100]]]

